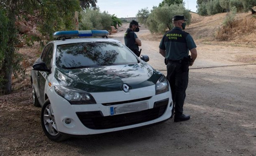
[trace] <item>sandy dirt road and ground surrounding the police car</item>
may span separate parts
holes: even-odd
[[[123,33],[110,37],[123,42]],[[142,54],[164,74],[159,40],[142,30]],[[255,156],[256,48],[197,41],[198,58],[189,73],[186,122],[170,119],[151,127],[71,138],[55,143],[44,135],[40,108],[32,106],[31,87],[0,96],[0,156]],[[33,54],[36,57],[36,54]],[[234,66],[233,66],[234,65]],[[216,66],[211,68],[204,68]],[[223,67],[217,67],[223,66]],[[27,79],[29,81],[29,79]]]

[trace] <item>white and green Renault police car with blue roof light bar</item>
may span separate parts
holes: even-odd
[[[108,34],[106,30],[55,32],[56,40],[33,64],[33,104],[42,106],[42,128],[52,141],[171,117],[166,77],[146,63],[148,56],[138,58]]]

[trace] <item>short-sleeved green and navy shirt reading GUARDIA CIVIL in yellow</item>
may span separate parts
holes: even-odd
[[[189,50],[196,48],[192,36],[178,27],[164,34],[159,48],[166,51],[167,60],[182,60],[188,56]]]

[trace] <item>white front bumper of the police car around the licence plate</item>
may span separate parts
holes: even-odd
[[[66,99],[57,95],[54,88],[48,93],[58,131],[71,135],[130,129],[158,123],[171,117],[171,92],[155,95],[155,86],[130,90],[129,93],[123,91],[91,93],[97,104],[84,105],[71,105]],[[142,103],[143,106],[146,103],[147,107],[138,107],[139,111],[129,108]],[[126,110],[128,107],[130,111],[117,114],[111,111],[123,106],[126,106]],[[71,119],[70,124],[65,123],[67,118]]]

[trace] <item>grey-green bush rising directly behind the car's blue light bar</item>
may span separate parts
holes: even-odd
[[[86,9],[81,11],[80,15],[82,17],[80,30],[111,30],[112,16],[106,11],[102,13],[99,9]]]

